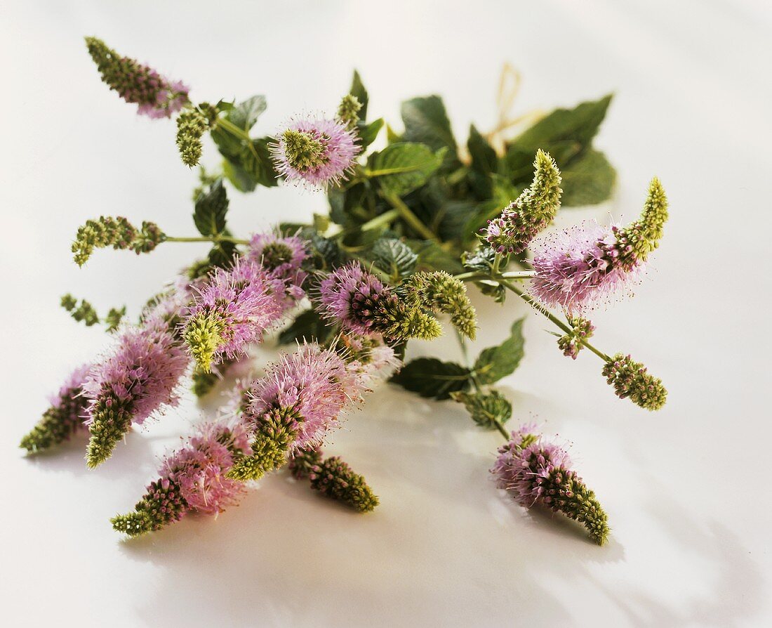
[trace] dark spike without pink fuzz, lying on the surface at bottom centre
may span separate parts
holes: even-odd
[[[297,452],[289,463],[289,470],[296,480],[308,478],[314,491],[356,511],[370,512],[378,506],[378,497],[364,477],[355,474],[338,456],[323,460],[319,447]]]

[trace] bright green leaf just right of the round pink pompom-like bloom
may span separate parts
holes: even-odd
[[[444,149],[435,153],[426,144],[398,142],[371,154],[368,168],[384,194],[404,196],[425,184],[442,164],[444,153]]]

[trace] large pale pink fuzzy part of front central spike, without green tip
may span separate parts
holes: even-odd
[[[360,402],[366,387],[361,376],[340,355],[318,345],[303,345],[269,365],[266,375],[245,392],[245,421],[258,429],[269,412],[290,409],[296,416],[291,450],[321,443],[350,403]]]

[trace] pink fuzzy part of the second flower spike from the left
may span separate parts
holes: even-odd
[[[118,404],[134,423],[143,423],[161,406],[176,405],[174,389],[187,366],[185,350],[160,318],[127,328],[112,355],[94,366],[83,384],[90,400],[87,423],[97,407]]]

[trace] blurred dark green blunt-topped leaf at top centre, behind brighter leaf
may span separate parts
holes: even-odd
[[[459,166],[458,148],[442,98],[427,96],[405,100],[401,113],[405,123],[403,141],[427,144],[435,151],[447,148],[445,166],[451,170]]]

